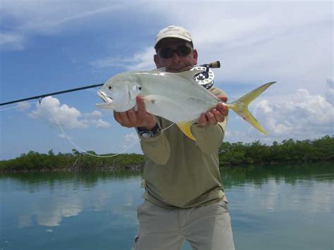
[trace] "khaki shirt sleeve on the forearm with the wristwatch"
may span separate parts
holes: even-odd
[[[144,155],[150,158],[151,161],[158,165],[166,165],[171,154],[171,148],[166,135],[163,135],[162,131],[159,131],[151,138],[140,137],[140,146]]]

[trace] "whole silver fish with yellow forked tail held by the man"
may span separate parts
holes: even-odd
[[[190,126],[202,113],[214,108],[221,101],[209,90],[194,81],[194,76],[202,70],[181,73],[166,73],[163,69],[151,71],[129,71],[111,77],[97,95],[104,101],[99,108],[109,108],[125,112],[134,108],[136,96],[144,99],[148,113],[171,120],[190,139],[194,139]],[[245,94],[231,104],[225,104],[250,125],[268,135],[248,111],[248,104],[275,82],[268,82]]]

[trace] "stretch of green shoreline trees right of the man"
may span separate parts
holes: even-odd
[[[252,143],[223,142],[219,160],[224,165],[259,165],[273,163],[311,163],[334,160],[334,137],[321,139],[273,142],[271,146]]]

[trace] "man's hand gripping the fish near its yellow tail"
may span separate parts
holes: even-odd
[[[228,101],[227,96],[220,95],[217,97],[221,101]],[[216,107],[211,108],[211,110],[201,114],[199,117],[199,124],[202,125],[202,127],[206,127],[208,124],[216,125],[217,123],[223,123],[225,116],[227,115],[228,108],[222,102],[218,102]]]

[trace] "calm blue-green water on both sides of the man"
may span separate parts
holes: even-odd
[[[333,249],[332,165],[221,172],[237,249]],[[130,249],[140,184],[129,173],[0,175],[0,249]]]

